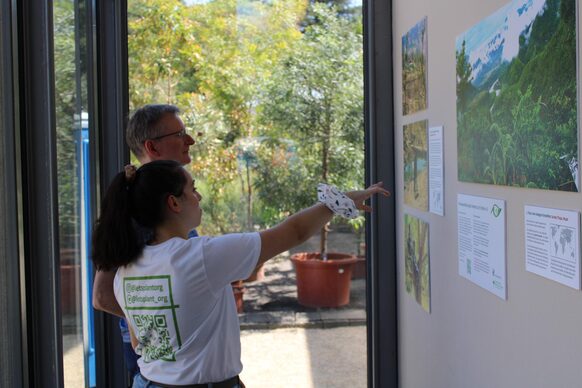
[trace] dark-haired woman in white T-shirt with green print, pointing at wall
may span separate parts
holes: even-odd
[[[243,387],[230,283],[305,241],[334,212],[354,216],[370,211],[364,201],[373,194],[389,195],[381,184],[346,195],[318,191],[324,203],[271,229],[189,239],[202,197],[179,163],[128,166],[115,177],[96,223],[93,261],[99,270],[117,268],[115,297],[141,354],[134,387]]]

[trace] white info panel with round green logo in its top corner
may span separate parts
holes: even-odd
[[[459,274],[502,299],[505,278],[505,201],[458,194]]]

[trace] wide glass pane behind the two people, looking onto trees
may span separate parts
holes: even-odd
[[[129,0],[128,31],[130,110],[151,103],[177,105],[196,140],[186,167],[203,197],[199,234],[273,226],[312,205],[322,181],[342,189],[363,186],[359,1]],[[305,251],[363,256],[363,226],[363,218],[336,218],[303,246],[233,285],[243,329],[259,327],[252,323],[261,322],[261,316],[263,323],[275,319],[271,327],[327,327],[325,319],[315,322],[318,316],[336,317],[334,325],[352,325],[345,331],[355,331],[351,336],[358,345],[346,341],[332,359],[316,353],[318,336],[311,329],[290,335],[289,342],[297,346],[290,353],[301,354],[311,366],[298,372],[295,365],[281,362],[271,369],[274,377],[286,375],[281,368],[289,365],[291,372],[307,376],[296,384],[285,380],[290,386],[325,385],[325,377],[314,372],[320,365],[332,374],[358,369],[361,373],[350,375],[357,381],[349,380],[349,386],[366,385],[366,284],[360,268],[365,258],[336,272],[349,287],[350,300],[324,307],[333,314],[322,315],[321,309],[299,303],[290,260]],[[260,339],[245,341],[247,334],[243,330],[242,376],[248,377],[248,386],[261,386],[268,379],[260,366],[274,358],[268,350],[261,352]],[[279,332],[278,338],[287,337]],[[250,356],[252,346],[264,359]],[[346,363],[338,362],[339,354]],[[350,364],[350,358],[359,362]],[[257,380],[253,368],[261,370]]]

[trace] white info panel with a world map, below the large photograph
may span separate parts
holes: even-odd
[[[580,289],[580,214],[526,206],[525,269]]]

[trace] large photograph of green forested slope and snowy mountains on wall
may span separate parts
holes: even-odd
[[[578,191],[575,0],[514,0],[456,39],[460,181]]]

